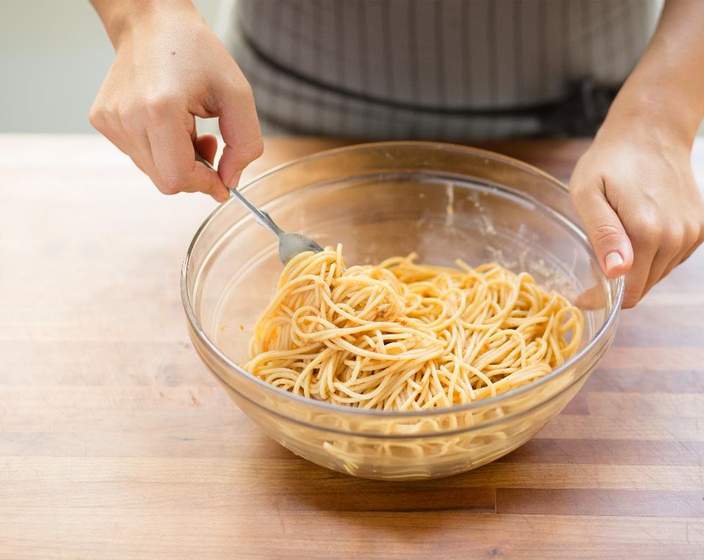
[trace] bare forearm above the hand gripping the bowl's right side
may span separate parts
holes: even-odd
[[[704,1],[667,0],[658,29],[616,97],[605,127],[642,124],[654,127],[653,134],[691,144],[703,117]]]

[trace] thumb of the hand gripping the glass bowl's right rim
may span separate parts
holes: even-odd
[[[599,265],[608,278],[627,273],[633,264],[633,247],[603,188],[575,188],[570,185],[574,208],[586,226],[586,233]]]

